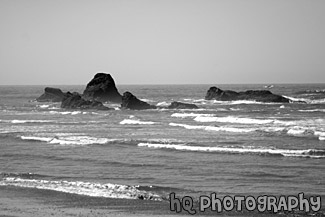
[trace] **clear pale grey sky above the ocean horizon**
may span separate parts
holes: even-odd
[[[324,0],[0,0],[0,85],[325,83]]]

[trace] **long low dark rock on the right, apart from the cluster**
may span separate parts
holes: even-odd
[[[288,98],[273,94],[268,90],[247,90],[245,92],[236,92],[231,90],[221,90],[217,87],[210,87],[205,96],[205,99],[215,99],[220,101],[255,100],[258,102],[290,102]]]

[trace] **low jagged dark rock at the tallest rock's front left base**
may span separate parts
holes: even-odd
[[[96,110],[109,110],[110,108],[103,105],[98,101],[89,101],[81,97],[79,93],[68,92],[63,98],[61,108],[65,109],[96,109]]]

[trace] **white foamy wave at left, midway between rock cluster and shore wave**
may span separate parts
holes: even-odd
[[[46,142],[49,144],[60,145],[90,145],[90,144],[106,144],[116,141],[116,139],[96,138],[90,136],[55,136],[55,137],[40,137],[40,136],[20,136],[23,140],[34,140]]]

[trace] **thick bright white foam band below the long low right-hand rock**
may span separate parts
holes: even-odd
[[[198,116],[194,118],[197,122],[221,122],[221,123],[239,123],[239,124],[269,124],[273,123],[274,120],[270,119],[252,119],[252,118],[240,118],[234,116],[227,117],[203,117]]]

